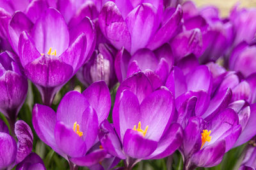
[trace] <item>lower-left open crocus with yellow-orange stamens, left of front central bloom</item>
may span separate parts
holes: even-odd
[[[33,126],[38,137],[74,166],[93,166],[106,156],[97,143],[99,123],[108,117],[111,97],[104,81],[92,83],[83,94],[68,92],[58,110],[36,104]]]

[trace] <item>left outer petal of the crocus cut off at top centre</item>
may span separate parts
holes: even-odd
[[[104,36],[117,49],[125,47],[131,50],[131,36],[116,4],[108,1],[99,14],[99,25]]]

